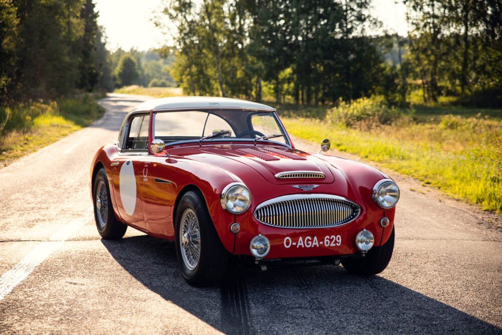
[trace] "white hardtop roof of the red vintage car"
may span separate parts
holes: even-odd
[[[136,106],[131,113],[140,111],[193,110],[193,109],[245,109],[275,111],[265,104],[239,99],[215,96],[174,96],[145,101]]]

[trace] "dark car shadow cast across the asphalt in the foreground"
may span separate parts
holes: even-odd
[[[101,240],[134,278],[225,333],[501,333],[501,329],[379,276],[342,267],[259,272],[232,265],[219,288],[181,277],[174,243]]]

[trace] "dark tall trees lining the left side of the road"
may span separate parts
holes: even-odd
[[[95,89],[97,16],[92,0],[0,0],[0,104]]]

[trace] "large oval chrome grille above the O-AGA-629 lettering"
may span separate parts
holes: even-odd
[[[359,205],[336,195],[295,194],[261,203],[254,215],[268,226],[310,229],[345,225],[360,212]]]

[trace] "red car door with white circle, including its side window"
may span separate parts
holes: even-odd
[[[118,155],[111,162],[111,186],[120,217],[146,230],[141,180],[144,159],[148,156],[149,114],[134,115],[128,122],[127,136]]]

